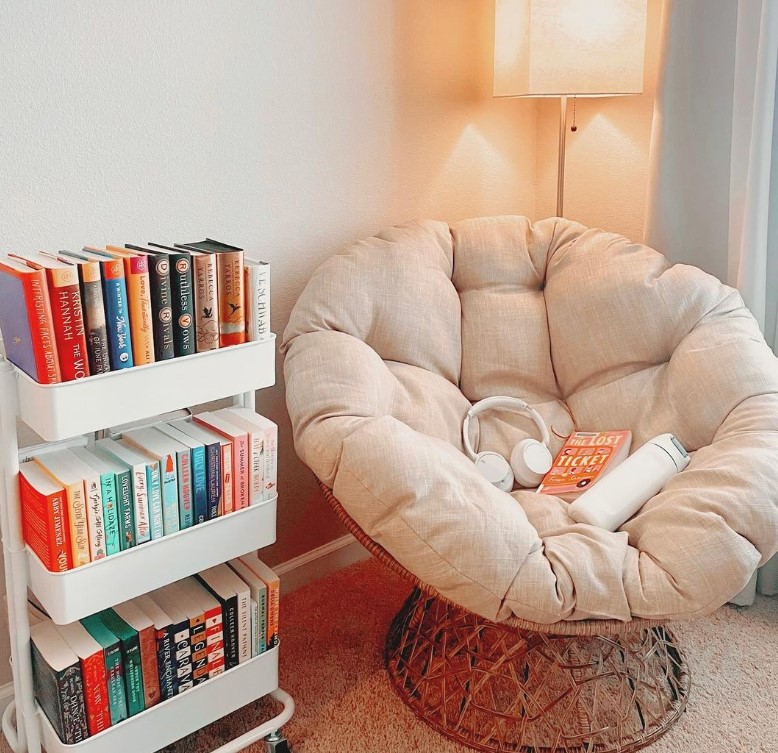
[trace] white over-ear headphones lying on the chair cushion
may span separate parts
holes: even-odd
[[[498,452],[490,450],[476,452],[470,444],[470,420],[490,408],[511,408],[528,414],[540,429],[543,441],[522,439],[511,451],[510,463]],[[509,492],[513,488],[514,478],[520,486],[524,487],[537,486],[543,480],[543,476],[551,470],[553,464],[551,450],[548,449],[549,439],[548,429],[540,413],[517,397],[496,395],[479,400],[467,412],[462,424],[462,441],[468,457],[475,463],[482,476],[504,492]]]

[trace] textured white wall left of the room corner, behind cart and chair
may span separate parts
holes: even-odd
[[[492,33],[491,0],[4,0],[0,252],[224,239],[272,263],[280,335],[349,241],[534,214],[535,106],[491,99]],[[278,374],[273,563],[342,533]]]

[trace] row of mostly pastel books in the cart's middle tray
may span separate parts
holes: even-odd
[[[25,543],[62,572],[272,499],[277,441],[236,406],[41,452],[20,467]]]

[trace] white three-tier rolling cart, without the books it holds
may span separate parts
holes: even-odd
[[[283,710],[212,753],[237,753],[262,739],[268,751],[289,749],[280,729],[292,717],[294,702],[278,687],[278,647],[83,742],[60,741],[33,693],[27,589],[54,622],[73,622],[272,544],[276,499],[51,573],[24,545],[16,434],[17,416],[54,442],[226,397],[253,409],[254,391],[274,383],[275,336],[57,385],[34,382],[0,356],[0,527],[14,687],[2,728],[15,753],[154,753],[265,695]]]

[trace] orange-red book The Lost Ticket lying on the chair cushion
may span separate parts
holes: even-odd
[[[574,431],[537,491],[557,497],[576,496],[624,460],[631,444],[630,431]]]

